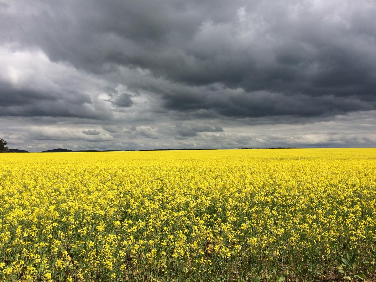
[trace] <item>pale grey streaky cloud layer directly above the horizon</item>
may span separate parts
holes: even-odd
[[[177,134],[176,125],[158,123],[157,127],[141,126],[111,135],[85,135],[80,127],[69,121],[41,126],[39,121],[24,124],[18,118],[0,117],[4,125],[0,136],[11,148],[41,151],[55,147],[72,150],[139,150],[163,148],[268,148],[268,147],[374,147],[376,111],[337,115],[334,119],[309,123],[249,124],[245,121],[227,121],[223,131],[200,132],[196,136]],[[212,120],[214,124],[216,121]],[[217,121],[219,122],[219,121]],[[247,121],[248,122],[248,121]],[[223,123],[223,122],[222,122]],[[34,125],[35,124],[35,125]],[[90,124],[85,124],[90,126]],[[11,132],[10,134],[5,134]]]

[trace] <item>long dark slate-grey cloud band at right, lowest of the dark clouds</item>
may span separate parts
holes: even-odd
[[[150,86],[149,86],[150,87]],[[174,111],[195,111],[195,117],[272,117],[293,115],[318,117],[352,111],[372,110],[376,99],[372,96],[334,94],[284,94],[283,92],[253,91],[223,88],[222,85],[182,86],[153,85],[152,91],[162,97],[163,106]],[[204,110],[205,112],[203,112]]]

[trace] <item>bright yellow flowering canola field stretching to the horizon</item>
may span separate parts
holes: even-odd
[[[2,281],[375,279],[376,149],[0,154]]]

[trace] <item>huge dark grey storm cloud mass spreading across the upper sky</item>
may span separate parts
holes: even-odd
[[[50,59],[89,72],[123,65],[183,86],[244,89],[238,97],[180,89],[163,94],[167,108],[264,116],[375,107],[373,2],[33,3],[21,13],[2,8],[4,41],[41,48]],[[265,97],[254,101],[255,91]],[[133,101],[124,93],[112,103]]]

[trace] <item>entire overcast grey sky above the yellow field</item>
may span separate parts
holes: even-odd
[[[30,152],[376,147],[374,0],[0,0]]]

